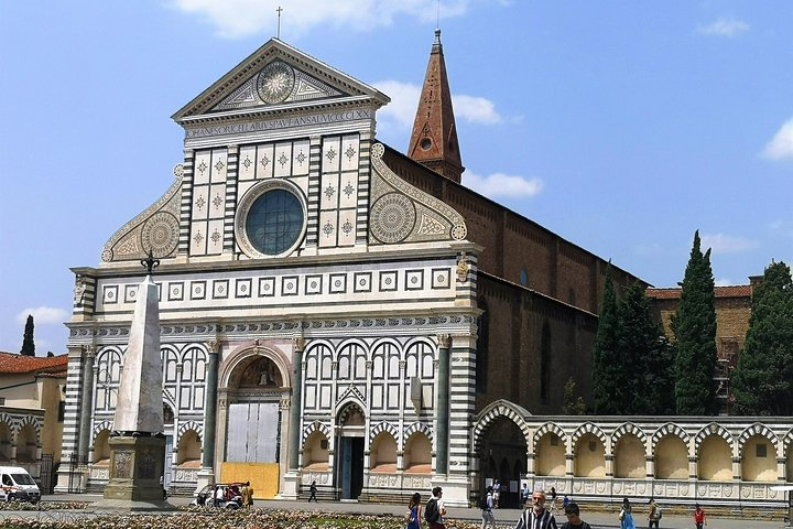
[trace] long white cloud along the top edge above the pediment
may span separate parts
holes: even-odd
[[[468,11],[470,0],[173,0],[173,6],[186,13],[206,19],[216,33],[226,39],[276,33],[281,12],[281,36],[285,41],[314,28],[328,25],[356,31],[371,31],[390,25],[400,15],[421,22],[434,22],[436,17],[448,19]]]

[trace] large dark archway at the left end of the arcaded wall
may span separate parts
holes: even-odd
[[[500,485],[499,507],[520,507],[520,478],[526,471],[526,442],[518,424],[507,417],[492,420],[480,443],[480,490],[496,481]]]

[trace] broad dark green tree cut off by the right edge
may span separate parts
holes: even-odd
[[[784,262],[772,262],[752,292],[731,389],[737,413],[793,415],[793,281]]]

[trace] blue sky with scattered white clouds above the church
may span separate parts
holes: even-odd
[[[173,181],[170,116],[275,35],[406,148],[438,21],[463,182],[656,287],[793,261],[793,2],[0,0],[0,350],[66,350],[74,277]]]

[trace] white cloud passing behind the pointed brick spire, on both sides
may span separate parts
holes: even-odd
[[[380,80],[373,84],[374,88],[391,98],[391,102],[378,110],[379,125],[395,126],[399,129],[413,127],[421,85],[402,83],[400,80]],[[452,96],[455,118],[470,123],[495,125],[501,122],[501,116],[496,111],[496,105],[478,96]]]

